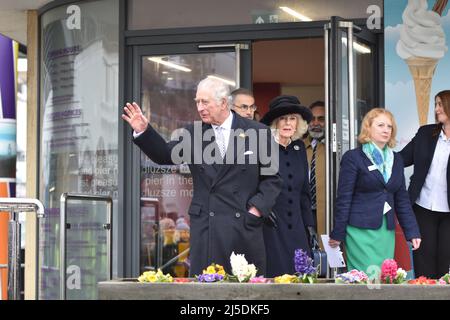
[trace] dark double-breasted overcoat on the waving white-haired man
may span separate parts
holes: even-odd
[[[187,126],[185,132],[189,134],[182,135],[181,140],[169,142],[149,125],[134,139],[136,145],[158,164],[173,164],[172,150],[176,148],[176,153],[185,155],[183,150],[186,149],[179,148],[180,141],[190,142],[189,159],[185,160],[193,178],[193,198],[189,208],[191,276],[201,274],[211,263],[221,264],[231,273],[230,255],[233,251],[244,254],[249,263],[255,264],[258,274],[263,275],[266,271],[263,219],[275,204],[282,181],[277,161],[268,162],[267,159],[271,158],[264,156],[266,152],[263,149],[269,149],[267,154],[270,156],[271,146],[277,144],[267,126],[234,112],[231,128],[242,130],[230,136],[227,164],[209,164],[201,157],[203,151],[206,153],[211,146],[217,146],[211,142],[214,134],[208,134],[212,132],[208,124],[203,123],[200,128],[196,124]],[[252,132],[258,130],[265,134],[255,135],[255,143]],[[200,135],[206,139],[202,141]],[[234,159],[234,163],[229,164],[230,159]],[[249,213],[252,206],[263,217]]]

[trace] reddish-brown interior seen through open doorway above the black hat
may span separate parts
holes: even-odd
[[[280,94],[297,96],[305,106],[324,100],[322,37],[256,41],[252,61],[253,93],[261,116]]]

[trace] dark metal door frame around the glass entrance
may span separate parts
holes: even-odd
[[[355,25],[365,26],[365,19],[348,19]],[[193,53],[194,46],[200,44],[221,44],[221,43],[249,43],[259,40],[285,40],[304,38],[324,38],[324,26],[330,20],[314,22],[296,22],[280,24],[254,24],[254,25],[233,25],[218,27],[192,27],[174,29],[154,29],[154,30],[125,30],[121,32],[120,62],[123,68],[120,69],[120,103],[123,106],[127,101],[132,101],[139,96],[140,91],[140,62],[137,61],[139,54],[152,50],[161,54],[182,54]],[[125,28],[125,25],[122,24]],[[372,33],[363,33],[363,39],[376,42],[376,53],[374,59],[375,76],[375,96],[376,104],[384,103],[384,34],[383,29]],[[250,46],[251,48],[251,46]],[[153,49],[157,51],[153,51]],[[170,51],[164,51],[165,49]],[[174,51],[175,50],[175,51]],[[196,51],[198,52],[198,51]],[[251,50],[249,50],[251,52]],[[243,55],[241,60],[241,87],[251,88],[251,54]],[[247,72],[242,72],[247,68]],[[139,74],[139,78],[138,75]],[[121,80],[123,79],[123,80]],[[139,86],[137,86],[139,84]],[[119,117],[122,108],[119,108]],[[119,276],[136,277],[139,272],[139,237],[136,230],[139,230],[140,212],[140,174],[136,174],[140,168],[139,150],[130,139],[131,129],[123,124],[119,125],[119,220],[123,227],[119,229],[119,239],[123,239],[123,245],[118,248]],[[123,174],[120,174],[123,172]],[[119,192],[119,195],[121,193]],[[130,214],[134,213],[134,214]],[[123,268],[121,268],[123,266]]]

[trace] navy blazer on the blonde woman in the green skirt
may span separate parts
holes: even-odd
[[[384,182],[378,169],[369,170],[372,165],[362,147],[350,150],[342,157],[331,239],[344,241],[347,225],[379,229],[383,222],[385,202],[392,208],[386,213],[387,228],[395,229],[395,211],[406,239],[420,238],[406,191],[402,157],[394,152],[392,175],[388,183]]]

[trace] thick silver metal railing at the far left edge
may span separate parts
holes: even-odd
[[[9,211],[8,223],[8,299],[20,300],[20,212],[36,212],[36,217],[44,217],[44,205],[38,199],[0,198],[0,211]],[[36,225],[39,225],[37,221]],[[37,227],[36,227],[37,230]],[[39,232],[36,232],[36,299],[39,297]]]

